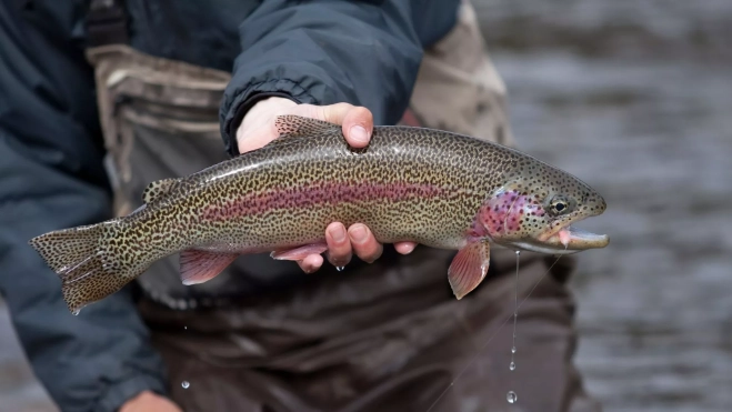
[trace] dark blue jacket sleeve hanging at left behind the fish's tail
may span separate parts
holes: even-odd
[[[59,278],[28,244],[109,218],[92,73],[52,24],[31,28],[9,3],[0,4],[0,293],[60,409],[116,411],[143,390],[164,390],[131,292],[73,316]],[[58,16],[73,12],[72,2],[56,4],[69,9]]]

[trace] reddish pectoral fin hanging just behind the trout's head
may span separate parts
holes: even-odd
[[[455,298],[462,299],[478,288],[488,273],[491,261],[491,245],[488,241],[468,243],[450,264],[448,279]]]

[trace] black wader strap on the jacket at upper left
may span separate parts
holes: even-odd
[[[126,11],[123,0],[91,0],[87,13],[87,47],[128,44]]]

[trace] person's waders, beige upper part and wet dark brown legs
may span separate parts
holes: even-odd
[[[126,46],[93,48],[88,58],[118,214],[141,204],[149,182],[227,158],[218,109],[229,73]],[[469,4],[425,51],[403,122],[513,143],[504,87]],[[180,284],[177,257],[159,262],[138,281],[139,309],[167,363],[169,395],[189,412],[600,410],[572,364],[571,258],[544,275],[553,259],[523,253],[519,301],[538,285],[520,309],[510,371],[512,251],[494,248],[485,281],[458,301],[447,279],[454,251],[384,249],[372,264],[342,272],[327,264],[315,274],[243,257],[190,288]],[[247,274],[275,271],[301,283],[240,293]]]

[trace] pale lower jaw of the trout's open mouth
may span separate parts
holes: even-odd
[[[545,240],[527,240],[513,243],[514,247],[548,254],[570,254],[588,249],[601,249],[610,243],[606,234],[596,234],[571,224],[558,230]]]

